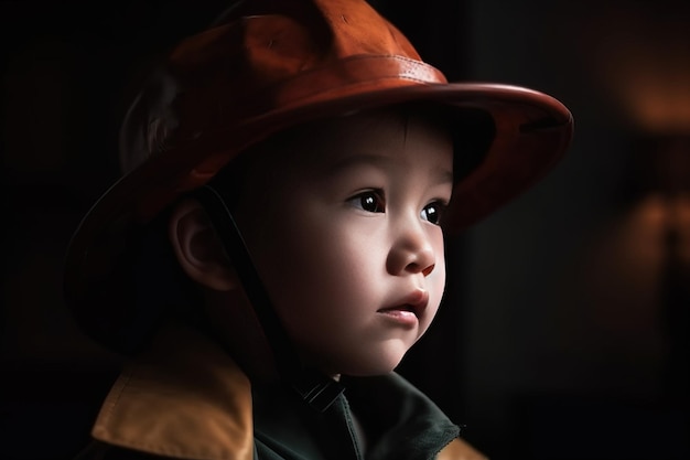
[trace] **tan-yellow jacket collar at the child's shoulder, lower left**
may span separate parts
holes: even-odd
[[[119,376],[91,435],[159,456],[251,460],[251,387],[220,347],[191,329],[165,328]]]

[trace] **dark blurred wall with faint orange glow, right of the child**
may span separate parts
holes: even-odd
[[[644,84],[670,93],[659,110],[690,101],[688,3],[470,3],[470,77],[546,92],[575,118],[554,171],[466,235],[472,434],[494,459],[688,458],[690,202],[671,334],[664,211],[640,186],[654,152],[635,168],[640,140],[665,135],[635,111]]]

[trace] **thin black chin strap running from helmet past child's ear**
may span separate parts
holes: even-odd
[[[280,376],[308,405],[320,411],[326,410],[345,388],[325,374],[302,365],[259,277],[241,232],[220,194],[206,184],[191,195],[205,207],[227,255],[233,260],[245,293],[263,328]]]

